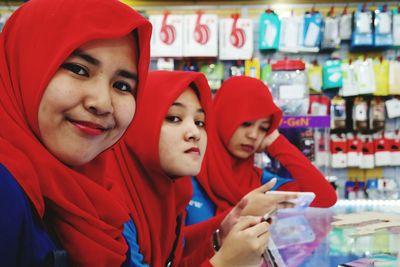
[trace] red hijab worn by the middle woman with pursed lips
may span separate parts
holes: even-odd
[[[132,126],[123,141],[113,148],[114,160],[109,171],[121,178],[140,251],[150,266],[165,265],[176,239],[177,217],[183,214],[192,196],[190,178],[171,179],[161,169],[159,157],[160,129],[165,115],[191,83],[198,88],[208,129],[211,92],[204,75],[155,71],[149,73],[144,94],[138,99]],[[178,240],[174,265],[182,256],[182,235]]]

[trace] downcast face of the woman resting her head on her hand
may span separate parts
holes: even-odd
[[[239,159],[247,159],[253,155],[271,127],[271,123],[271,117],[243,122],[229,140],[229,152]]]

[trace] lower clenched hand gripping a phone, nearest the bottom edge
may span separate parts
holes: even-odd
[[[260,222],[260,217],[240,217],[211,258],[211,264],[215,267],[260,266],[269,241],[268,229],[269,224]]]

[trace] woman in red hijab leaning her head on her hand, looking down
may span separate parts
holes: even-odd
[[[316,198],[311,204],[314,207],[335,204],[333,187],[277,131],[282,112],[262,81],[244,76],[228,79],[217,91],[213,107],[217,134],[215,138],[209,137],[206,164],[193,179],[195,191],[188,206],[188,224],[232,207],[273,177],[254,166],[256,151],[265,150],[294,177],[277,179],[274,190],[314,192]]]

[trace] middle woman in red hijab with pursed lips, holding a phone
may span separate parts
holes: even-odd
[[[182,258],[190,176],[201,168],[207,132],[214,125],[210,111],[211,92],[203,74],[151,72],[134,122],[112,150],[107,173],[121,178],[122,196],[132,215],[124,233],[130,244],[137,243],[131,245],[132,254],[139,250],[143,255],[138,266],[233,266],[261,260],[268,224],[260,223],[259,217],[238,218],[241,206],[224,220],[229,234],[210,262],[206,259],[213,254],[211,235],[205,232],[207,241]]]

